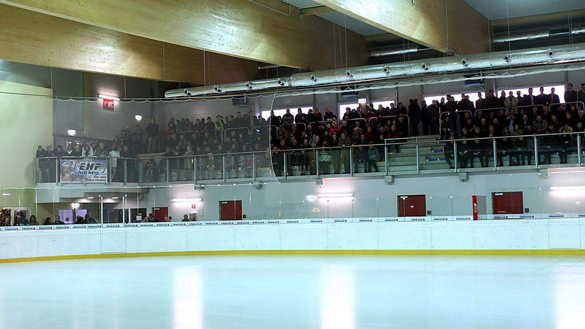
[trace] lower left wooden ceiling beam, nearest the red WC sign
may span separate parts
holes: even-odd
[[[257,74],[256,61],[1,4],[0,30],[0,59],[19,63],[195,84],[254,80]]]

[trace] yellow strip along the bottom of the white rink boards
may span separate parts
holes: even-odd
[[[232,256],[232,255],[373,255],[373,256],[584,256],[585,249],[414,249],[414,250],[221,250],[98,253],[92,255],[40,256],[0,259],[0,263],[64,261],[68,259],[133,258],[160,256]]]

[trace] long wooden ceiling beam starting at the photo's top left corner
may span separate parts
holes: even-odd
[[[179,46],[295,68],[366,63],[363,36],[347,32],[347,56],[336,26],[278,0],[0,0],[17,6]],[[290,10],[290,12],[288,12]],[[340,64],[339,58],[347,58]]]

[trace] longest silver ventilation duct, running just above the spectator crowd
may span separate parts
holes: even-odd
[[[290,77],[222,84],[216,85],[214,88],[207,86],[169,90],[165,92],[165,97],[195,97],[221,95],[229,92],[257,92],[277,88],[320,87],[576,61],[585,61],[585,43],[297,73]]]

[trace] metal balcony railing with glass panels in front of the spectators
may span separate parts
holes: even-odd
[[[584,132],[434,140],[386,139],[370,145],[180,157],[43,157],[35,183],[163,186],[207,181],[503,170],[511,166],[581,166]],[[446,163],[446,165],[445,165]],[[103,166],[106,166],[106,169]],[[529,168],[528,167],[528,168]],[[430,172],[430,171],[429,171]]]

